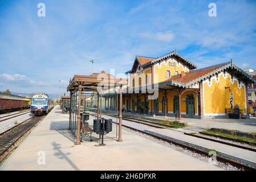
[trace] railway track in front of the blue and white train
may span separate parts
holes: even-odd
[[[34,116],[0,135],[0,164],[6,158],[9,148],[36,125],[44,116]]]

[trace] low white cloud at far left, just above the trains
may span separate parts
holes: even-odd
[[[6,73],[3,73],[0,75],[0,80],[2,82],[8,82],[10,84],[18,85],[18,86],[48,86],[45,82],[42,81],[34,81],[31,78],[27,77],[26,75],[20,75],[20,74],[14,74],[14,75],[9,75]]]

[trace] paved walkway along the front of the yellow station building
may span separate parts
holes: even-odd
[[[127,113],[124,113],[127,114]],[[165,120],[164,116],[156,115],[152,117],[150,115],[132,114],[136,117],[156,118]],[[174,120],[174,117],[167,117],[169,120]],[[243,132],[256,132],[256,118],[250,117],[247,119],[194,119],[194,118],[181,118],[181,122],[187,123],[192,127],[200,127],[203,129],[211,129],[213,127],[227,130],[238,130]]]

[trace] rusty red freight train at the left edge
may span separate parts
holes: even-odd
[[[29,97],[0,92],[0,114],[29,109],[30,105],[31,100]]]

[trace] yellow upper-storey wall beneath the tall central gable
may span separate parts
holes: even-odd
[[[174,66],[171,66],[170,63],[174,63]],[[180,74],[182,71],[189,72],[189,69],[183,66],[181,63],[178,63],[175,59],[169,59],[162,61],[154,65],[154,82],[162,82],[167,80],[169,77],[166,77],[166,71],[170,71],[170,76],[173,76],[177,71]]]

